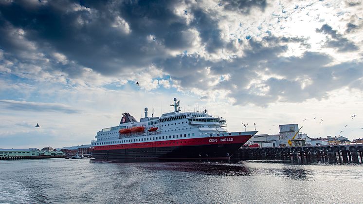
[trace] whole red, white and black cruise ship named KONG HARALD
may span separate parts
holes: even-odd
[[[120,124],[97,132],[91,142],[97,160],[119,162],[228,161],[257,131],[228,132],[226,120],[202,112],[181,112],[174,98],[173,112],[138,122],[123,113]]]

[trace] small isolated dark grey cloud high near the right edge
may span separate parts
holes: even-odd
[[[324,24],[320,29],[316,29],[316,32],[329,35],[332,39],[327,38],[325,46],[337,48],[338,52],[349,52],[359,49],[354,42],[343,37],[343,35],[339,34],[336,30],[333,30],[333,28],[328,24]]]

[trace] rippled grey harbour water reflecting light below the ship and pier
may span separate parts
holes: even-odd
[[[362,165],[0,161],[0,203],[360,203]]]

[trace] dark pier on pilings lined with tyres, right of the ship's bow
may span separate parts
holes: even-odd
[[[294,164],[363,164],[363,145],[240,148],[231,159],[283,160]]]

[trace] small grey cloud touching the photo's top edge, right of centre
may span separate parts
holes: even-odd
[[[249,14],[253,7],[264,10],[267,6],[266,0],[221,0],[219,4],[223,5],[227,10],[237,11],[242,14]]]

